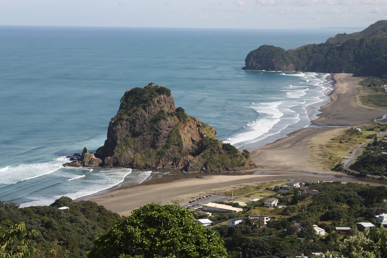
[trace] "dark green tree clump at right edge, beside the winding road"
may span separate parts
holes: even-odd
[[[365,146],[363,152],[351,165],[351,169],[362,174],[387,175],[387,141],[378,140]]]

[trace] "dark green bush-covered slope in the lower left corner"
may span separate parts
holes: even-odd
[[[67,210],[59,207],[68,206]],[[73,202],[62,197],[51,206],[31,206],[18,208],[12,203],[2,202],[0,206],[0,231],[23,222],[28,232],[36,231],[31,244],[41,256],[56,250],[58,257],[86,257],[92,241],[101,233],[107,232],[119,219],[103,206],[91,201]],[[15,239],[14,245],[21,246],[22,240]],[[12,248],[12,246],[11,246]]]

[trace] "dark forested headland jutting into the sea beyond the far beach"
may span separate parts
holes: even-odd
[[[337,34],[325,43],[296,49],[262,45],[248,53],[243,70],[351,73],[387,77],[387,21],[365,30]]]

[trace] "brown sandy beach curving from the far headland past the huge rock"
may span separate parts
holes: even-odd
[[[319,119],[312,121],[315,126],[355,126],[366,122],[373,122],[374,119],[387,114],[387,110],[364,110],[350,105],[351,99],[356,96],[358,90],[356,83],[359,79],[352,77],[352,74],[334,74],[336,89],[331,93],[331,103],[321,108],[322,113]],[[292,174],[290,172],[264,172],[258,175],[205,175],[205,178],[195,177],[180,180],[157,183],[146,182],[137,186],[116,189],[110,193],[99,194],[85,200],[95,201],[105,206],[112,212],[127,215],[129,211],[151,202],[170,202],[176,196],[210,191],[211,189],[226,187],[247,182],[272,181],[279,179],[305,179],[324,181],[352,181],[358,179],[328,179],[323,174],[330,171],[323,171],[313,168],[309,160],[308,143],[312,137],[318,136],[334,128],[329,127],[308,127],[289,134],[287,137],[278,139],[274,143],[267,144],[254,150],[250,150],[250,157],[259,167],[257,170],[279,170],[316,173],[316,175]],[[321,175],[318,175],[321,174]],[[114,196],[111,196],[114,194]]]

